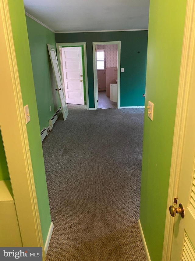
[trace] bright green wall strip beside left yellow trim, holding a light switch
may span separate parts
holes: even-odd
[[[41,229],[43,240],[45,243],[49,227],[51,225],[51,216],[45,178],[44,159],[39,129],[39,119],[37,113],[37,103],[34,89],[24,3],[23,0],[9,0],[8,3],[23,104],[28,104],[30,112],[30,122],[27,124],[27,132],[33,166],[34,181],[36,186],[39,214],[41,219]]]

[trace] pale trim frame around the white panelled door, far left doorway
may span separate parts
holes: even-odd
[[[62,80],[63,80],[63,73],[61,68],[61,59],[60,59],[60,53],[59,48],[62,46],[69,46],[69,47],[75,47],[75,46],[83,46],[84,50],[84,70],[85,70],[85,90],[86,90],[86,103],[87,103],[87,110],[89,110],[89,93],[88,93],[88,77],[87,77],[87,49],[86,49],[86,43],[56,43],[56,49],[57,49],[57,58],[58,58],[58,65],[60,68]],[[64,80],[63,80],[64,82]]]

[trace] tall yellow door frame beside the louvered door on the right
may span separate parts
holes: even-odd
[[[189,93],[191,86],[191,73],[193,58],[195,56],[195,0],[187,0],[186,20],[183,37],[183,48],[181,67],[179,75],[178,99],[176,108],[176,121],[173,136],[173,149],[171,159],[171,170],[168,188],[168,200],[165,220],[165,233],[162,261],[171,258],[173,232],[175,219],[169,213],[169,206],[174,205],[174,198],[177,198],[179,188],[179,176],[182,162],[184,144],[184,133],[187,118]],[[195,84],[195,83],[194,83]]]

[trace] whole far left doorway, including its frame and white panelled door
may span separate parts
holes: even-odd
[[[57,43],[56,47],[67,104],[88,110],[86,43]]]

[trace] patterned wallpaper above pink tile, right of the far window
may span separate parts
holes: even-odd
[[[117,67],[117,44],[106,45],[106,68]]]

